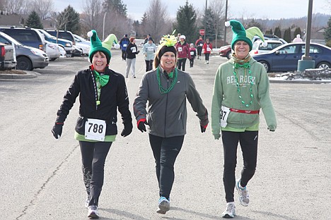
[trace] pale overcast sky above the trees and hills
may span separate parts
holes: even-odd
[[[70,5],[79,13],[83,11],[81,2],[85,0],[71,0]],[[141,20],[147,10],[150,0],[123,0],[127,4],[127,15],[134,20]],[[211,0],[209,0],[211,1]],[[331,14],[327,7],[328,0],[313,0],[313,13]],[[331,2],[331,0],[329,0]],[[175,18],[179,6],[184,6],[186,0],[162,0],[168,7],[169,16]],[[203,11],[206,1],[189,0],[194,8]],[[208,1],[207,1],[208,4]],[[56,11],[62,11],[68,6],[67,0],[54,0]],[[228,0],[228,18],[300,18],[307,16],[308,0]]]

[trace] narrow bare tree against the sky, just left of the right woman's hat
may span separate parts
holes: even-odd
[[[211,13],[213,14],[213,27],[215,32],[215,47],[217,47],[218,35],[221,32],[224,24],[225,17],[225,4],[223,0],[212,0],[210,1],[209,8],[211,8]]]

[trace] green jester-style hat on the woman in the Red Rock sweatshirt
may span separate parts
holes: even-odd
[[[234,45],[239,40],[242,40],[250,46],[250,51],[252,50],[252,38],[257,35],[265,42],[265,37],[263,37],[263,33],[258,27],[250,27],[245,30],[245,27],[238,20],[229,20],[225,23],[226,27],[232,26],[233,37],[231,42],[231,48],[234,50]],[[265,45],[265,43],[264,43]],[[265,45],[267,46],[267,45]]]

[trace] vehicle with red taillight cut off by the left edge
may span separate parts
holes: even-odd
[[[0,42],[0,70],[12,69],[16,66],[15,47]]]

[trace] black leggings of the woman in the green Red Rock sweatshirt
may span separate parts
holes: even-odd
[[[240,142],[243,152],[243,170],[240,185],[245,187],[254,176],[257,161],[258,131],[231,132],[222,131],[224,170],[223,184],[226,192],[226,202],[234,202],[234,188],[236,185],[237,147]]]

